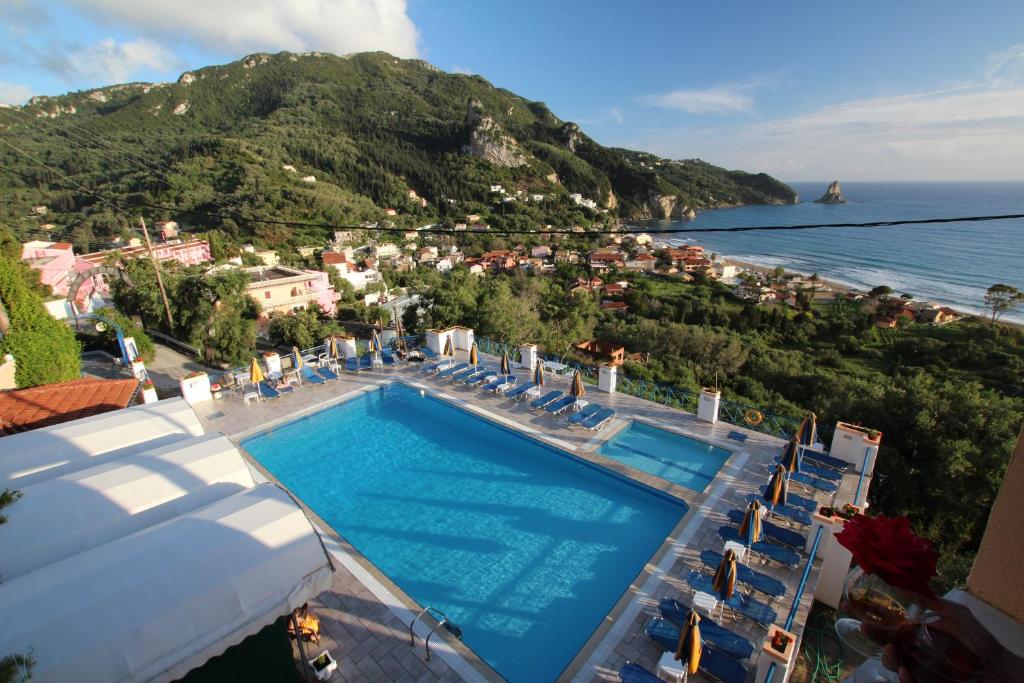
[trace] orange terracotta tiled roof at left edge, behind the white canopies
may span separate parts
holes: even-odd
[[[0,436],[128,407],[138,380],[86,378],[0,391]]]

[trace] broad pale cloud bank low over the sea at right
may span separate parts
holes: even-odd
[[[743,126],[657,131],[650,139],[662,154],[795,180],[1017,179],[1024,86],[853,100]]]

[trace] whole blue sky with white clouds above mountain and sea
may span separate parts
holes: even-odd
[[[386,50],[783,180],[1024,178],[1024,2],[0,0],[0,102]]]

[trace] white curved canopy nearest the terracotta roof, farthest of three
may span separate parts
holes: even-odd
[[[5,436],[0,488],[20,488],[202,433],[188,403],[173,398]]]

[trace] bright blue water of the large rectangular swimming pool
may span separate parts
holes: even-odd
[[[392,384],[243,445],[509,681],[552,681],[686,511]]]

